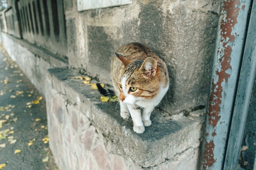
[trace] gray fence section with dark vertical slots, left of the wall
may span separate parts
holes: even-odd
[[[67,40],[62,0],[19,0],[0,15],[1,30],[16,38],[66,55]]]

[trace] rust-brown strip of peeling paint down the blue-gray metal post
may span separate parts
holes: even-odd
[[[240,0],[223,0],[221,3],[220,11],[220,20],[219,20],[219,30],[218,30],[218,42],[216,44],[216,54],[214,61],[214,72],[212,75],[211,81],[211,92],[209,95],[209,104],[207,110],[207,130],[205,132],[205,143],[204,143],[204,151],[203,151],[203,162],[202,169],[203,170],[212,170],[213,165],[221,163],[223,160],[219,159],[219,155],[214,155],[214,150],[216,149],[216,145],[218,148],[222,144],[220,144],[219,139],[225,140],[225,136],[221,136],[223,134],[218,134],[218,128],[222,128],[221,131],[224,135],[227,134],[227,130],[225,128],[228,127],[229,121],[225,124],[222,117],[227,118],[227,111],[223,111],[224,107],[224,99],[227,99],[227,84],[229,83],[229,79],[231,74],[233,74],[233,68],[231,66],[231,53],[233,51],[233,47],[235,44],[235,39],[239,32],[235,31],[235,25],[238,23],[238,15],[241,8],[244,8]],[[232,82],[233,83],[233,82]],[[222,121],[220,119],[222,118]],[[218,127],[218,125],[222,124],[222,127]],[[227,124],[227,125],[226,125]],[[211,134],[211,135],[209,135]],[[216,140],[218,139],[218,140]],[[218,144],[216,143],[218,142]],[[222,150],[225,149],[225,142],[223,142],[224,146]],[[219,160],[217,160],[217,157]],[[223,157],[221,155],[220,157]]]

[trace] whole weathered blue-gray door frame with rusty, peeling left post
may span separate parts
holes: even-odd
[[[201,170],[239,169],[243,124],[256,67],[255,2],[253,5],[251,15],[250,0],[221,2]]]

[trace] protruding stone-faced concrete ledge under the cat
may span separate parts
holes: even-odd
[[[197,169],[203,117],[171,120],[154,110],[152,125],[136,134],[117,103],[69,78],[78,75],[67,68],[46,75],[49,144],[60,169]]]

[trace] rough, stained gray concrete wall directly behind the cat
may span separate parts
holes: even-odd
[[[160,108],[173,115],[207,104],[218,23],[217,0],[133,0],[78,12],[64,0],[71,67],[110,82],[110,60],[127,42],[141,42],[163,57],[170,90]],[[202,107],[200,107],[202,108]]]

